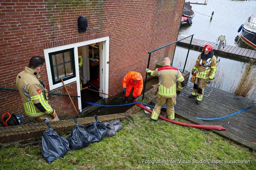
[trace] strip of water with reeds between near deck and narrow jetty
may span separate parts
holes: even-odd
[[[188,47],[176,46],[173,66],[181,70],[184,68],[186,56],[187,56]],[[196,63],[200,51],[190,49],[187,64],[185,70],[191,71],[193,66]],[[227,57],[224,55],[214,54],[217,57],[217,71],[215,75],[215,80],[210,84],[213,87],[228,91],[234,92],[234,89],[237,88],[239,80],[241,79],[246,64],[249,63],[248,60],[238,60],[236,58]],[[255,63],[254,63],[255,64]],[[256,65],[253,65],[253,70],[256,70]],[[254,72],[255,73],[255,72]],[[189,77],[189,81],[191,78]],[[256,76],[256,74],[254,74]],[[256,84],[251,89],[251,91],[246,96],[249,99],[256,100]]]

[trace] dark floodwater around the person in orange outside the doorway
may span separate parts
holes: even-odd
[[[145,88],[145,92],[150,90],[152,88],[152,85],[155,85],[155,84],[158,84],[158,79],[157,78],[154,78],[154,79],[151,79],[150,81],[147,81],[146,83],[146,88]],[[133,90],[132,90],[133,92]],[[128,99],[131,99],[131,100],[128,100],[128,102],[132,102],[132,92],[129,96]],[[143,92],[143,90],[142,90]],[[142,95],[142,94],[141,94]],[[125,99],[124,96],[121,96],[121,98],[116,98],[116,100],[114,101],[111,101],[109,103],[109,105],[120,105],[120,104],[125,104]],[[92,112],[90,115],[87,115],[86,117],[91,117],[91,116],[94,116],[94,115],[109,115],[109,114],[116,114],[116,113],[124,113],[126,112],[129,108],[131,108],[132,106],[134,105],[127,105],[127,106],[117,106],[117,107],[100,107],[99,109],[97,109],[96,111]]]

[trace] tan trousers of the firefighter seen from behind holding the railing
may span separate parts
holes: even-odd
[[[174,105],[176,104],[176,95],[170,98],[162,97],[157,94],[156,105],[152,111],[151,119],[157,120],[161,111],[162,105],[166,103],[167,117],[174,119]]]

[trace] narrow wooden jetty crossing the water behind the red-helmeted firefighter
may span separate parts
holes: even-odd
[[[179,35],[178,39],[182,39],[185,36]],[[184,46],[189,46],[190,44],[191,37],[188,37],[184,40],[181,40],[178,42],[180,45]],[[217,50],[218,46],[216,45],[217,43],[211,42],[211,41],[205,41],[202,39],[196,39],[193,38],[192,43],[191,43],[191,49],[196,48],[196,49],[203,49],[203,47],[206,44],[211,44],[213,46],[213,51],[214,53],[222,54],[222,55],[227,55],[231,57],[237,57],[237,58],[243,58],[243,59],[250,59],[253,58],[256,60],[256,51],[255,50],[250,50],[250,49],[245,49],[241,47],[234,47],[234,46],[229,46],[227,45],[225,48],[222,48],[221,50]]]

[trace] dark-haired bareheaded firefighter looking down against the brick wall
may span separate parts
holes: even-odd
[[[37,122],[57,121],[59,118],[47,101],[48,92],[39,80],[44,62],[43,57],[33,56],[29,61],[29,66],[17,75],[16,86],[29,117]]]

